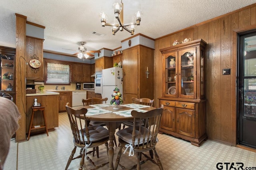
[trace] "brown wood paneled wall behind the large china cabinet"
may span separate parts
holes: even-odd
[[[203,39],[206,46],[206,133],[208,139],[236,145],[236,33],[237,29],[256,28],[256,4],[182,29],[155,41],[154,100],[162,95],[162,55],[160,49],[177,39]],[[236,31],[235,31],[236,32]],[[222,75],[231,68],[230,75]]]

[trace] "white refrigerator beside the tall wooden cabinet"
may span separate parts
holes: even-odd
[[[123,70],[120,67],[112,67],[102,70],[102,98],[112,99],[114,89],[118,87],[123,97]]]

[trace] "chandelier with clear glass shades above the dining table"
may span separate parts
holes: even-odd
[[[100,18],[101,18],[101,24],[102,27],[111,26],[112,27],[112,35],[116,35],[117,31],[123,31],[124,29],[128,31],[131,35],[134,35],[134,29],[136,25],[140,25],[141,17],[142,17],[142,12],[138,11],[134,14],[135,20],[134,22],[126,23],[124,24],[123,22],[123,14],[124,10],[123,9],[123,2],[116,2],[113,4],[113,10],[115,14],[115,18],[117,19],[118,23],[106,23],[106,20],[108,19],[108,16],[102,12],[100,13]]]

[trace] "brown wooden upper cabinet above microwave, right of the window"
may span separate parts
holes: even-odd
[[[90,64],[77,64],[72,66],[72,82],[91,82]]]

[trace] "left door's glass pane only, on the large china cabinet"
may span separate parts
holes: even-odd
[[[176,56],[170,55],[165,59],[165,84],[166,94],[176,95]]]

